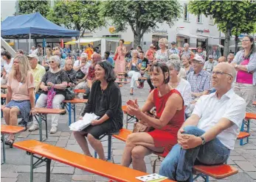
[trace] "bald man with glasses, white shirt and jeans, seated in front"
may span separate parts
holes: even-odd
[[[224,164],[234,149],[246,102],[232,90],[235,68],[221,62],[212,70],[216,92],[203,95],[193,114],[178,131],[178,144],[162,161],[160,175],[173,181],[187,181],[196,161],[201,164]]]

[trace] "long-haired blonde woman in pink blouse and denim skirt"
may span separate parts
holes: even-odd
[[[4,120],[7,125],[17,125],[18,115],[24,122],[35,114],[34,79],[30,71],[30,63],[26,56],[18,55],[13,60],[13,70],[7,81],[7,98],[4,107]],[[7,137],[5,144],[13,145],[13,134]]]

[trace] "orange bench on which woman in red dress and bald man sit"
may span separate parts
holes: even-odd
[[[128,129],[122,128],[120,130],[119,134],[114,134],[113,136],[115,138],[120,139],[123,142],[125,142],[128,135],[131,133],[132,132],[129,131]],[[161,153],[154,153],[154,154],[156,154],[156,156],[158,156],[158,157],[159,156],[163,157],[161,155]],[[156,160],[154,161],[154,164],[153,164],[153,173],[155,172]],[[215,179],[222,179],[222,178],[226,178],[230,175],[235,175],[236,173],[238,173],[238,169],[236,169],[235,167],[232,167],[228,164],[211,165],[211,166],[195,165],[193,167],[193,174],[195,174],[196,177],[193,178],[193,174],[191,174],[190,181],[195,181],[196,178],[201,176],[202,178],[204,178],[204,181],[208,182],[209,176],[211,176],[212,178],[215,178]]]

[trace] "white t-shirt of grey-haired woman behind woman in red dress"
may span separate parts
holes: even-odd
[[[181,79],[181,81],[179,81],[179,84],[175,89],[181,93],[181,96],[184,100],[184,106],[189,107],[190,101],[192,100],[190,83],[185,79]]]

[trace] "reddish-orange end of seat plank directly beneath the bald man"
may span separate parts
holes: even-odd
[[[226,178],[230,175],[235,175],[236,173],[238,173],[238,169],[228,164],[213,166],[196,165],[193,167],[193,170],[196,170],[196,172],[204,173],[205,175],[210,175],[212,178],[216,179]]]

